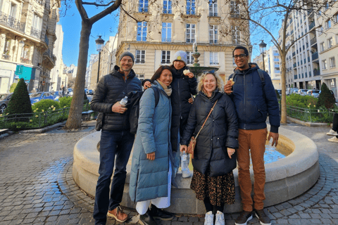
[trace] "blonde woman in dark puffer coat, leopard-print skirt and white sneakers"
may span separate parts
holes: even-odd
[[[204,200],[206,224],[224,224],[224,204],[234,204],[235,149],[238,148],[237,115],[229,96],[223,94],[223,80],[213,72],[200,77],[196,96],[182,134],[181,151],[187,150],[192,135],[199,133],[208,113],[215,104],[206,124],[196,139],[194,175],[191,188],[196,198]],[[217,101],[217,103],[216,103]]]

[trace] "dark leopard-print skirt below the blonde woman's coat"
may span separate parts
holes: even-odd
[[[198,200],[209,197],[212,205],[223,206],[234,204],[234,174],[232,172],[223,176],[209,176],[201,174],[194,169],[190,188],[195,191]]]

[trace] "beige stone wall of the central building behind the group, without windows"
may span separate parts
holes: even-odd
[[[120,26],[118,32],[118,50],[116,56],[124,51],[135,54],[136,50],[144,50],[145,62],[135,63],[134,71],[138,75],[150,78],[161,64],[162,51],[170,51],[170,60],[176,51],[192,51],[193,43],[186,41],[186,25],[192,23],[196,26],[196,43],[201,53],[199,63],[204,66],[219,68],[218,74],[228,77],[234,70],[232,50],[237,44],[232,44],[231,25],[239,25],[238,21],[230,17],[227,1],[218,1],[218,16],[210,16],[207,1],[196,1],[196,15],[186,15],[185,2],[173,6],[173,14],[163,14],[163,1],[149,5],[148,13],[138,13],[138,1],[126,1],[125,9],[134,18],[147,22],[146,41],[137,41],[137,23],[125,13],[120,14]],[[163,42],[161,39],[162,23],[172,23],[171,41]],[[209,26],[218,26],[218,43],[210,44]],[[242,23],[241,45],[249,43],[248,27]],[[210,53],[216,52],[218,65],[210,65]],[[135,56],[136,57],[136,56]],[[170,64],[169,64],[170,65]]]

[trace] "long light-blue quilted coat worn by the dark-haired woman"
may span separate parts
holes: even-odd
[[[157,81],[153,86],[160,91],[155,108],[153,89],[146,89],[139,102],[139,125],[132,154],[130,198],[134,202],[168,197],[168,169],[171,156],[171,104]],[[155,160],[146,154],[155,152]]]

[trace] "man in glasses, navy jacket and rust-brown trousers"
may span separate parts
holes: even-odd
[[[280,127],[280,112],[273,83],[268,73],[263,73],[264,79],[258,73],[258,66],[250,64],[249,51],[243,46],[237,46],[233,53],[237,68],[234,75],[224,86],[225,93],[234,101],[239,127],[239,148],[237,150],[238,180],[241,191],[243,211],[235,220],[237,225],[246,225],[252,219],[252,211],[261,224],[270,224],[269,217],[263,211],[265,200],[265,141],[268,135],[266,118],[269,114],[270,134],[273,144],[278,143],[278,127]],[[250,156],[253,165],[254,195],[251,198]]]

